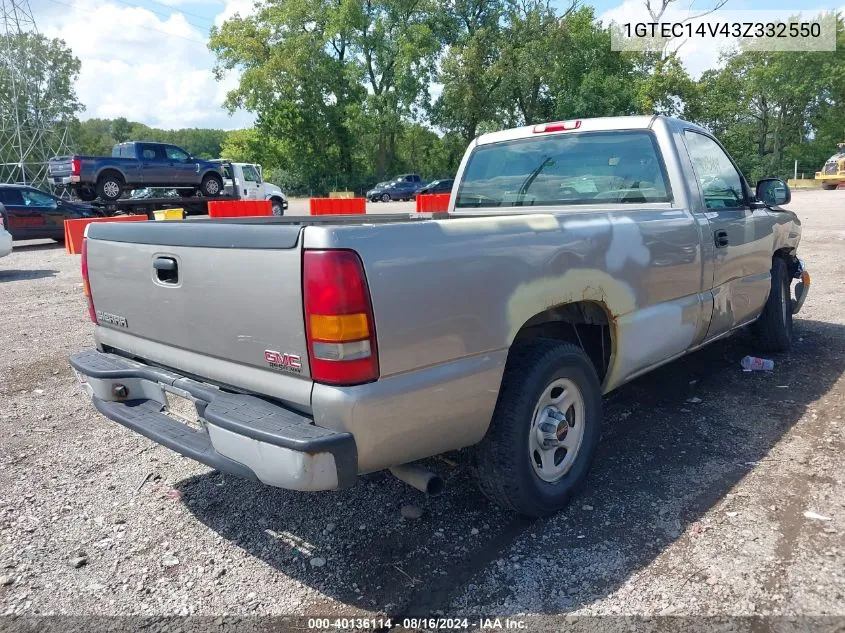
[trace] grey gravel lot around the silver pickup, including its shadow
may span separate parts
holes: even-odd
[[[0,613],[845,616],[845,191],[792,208],[813,274],[793,351],[743,373],[740,335],[614,393],[587,492],[533,522],[482,499],[463,454],[430,461],[438,499],[379,475],[301,494],[106,420],[67,364],[92,344],[79,260],[18,244],[0,260]]]

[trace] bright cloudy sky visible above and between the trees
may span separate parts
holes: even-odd
[[[713,0],[692,1],[696,10]],[[805,2],[728,0],[725,8],[781,10],[788,16],[790,9],[797,13],[796,6]],[[582,3],[592,4],[604,22],[644,16],[643,0]],[[826,5],[823,0],[812,5],[822,10],[840,3]],[[252,123],[250,113],[229,114],[222,107],[238,77],[214,79],[214,56],[206,42],[212,25],[235,13],[248,14],[253,0],[30,0],[30,5],[39,31],[63,39],[82,61],[76,85],[85,105],[82,118],[123,116],[165,129],[236,129]],[[845,11],[845,6],[839,10]],[[685,44],[679,54],[694,77],[718,63],[718,51],[698,42]]]

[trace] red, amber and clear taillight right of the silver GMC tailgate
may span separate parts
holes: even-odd
[[[305,251],[302,291],[311,378],[330,385],[378,379],[373,307],[357,253]]]

